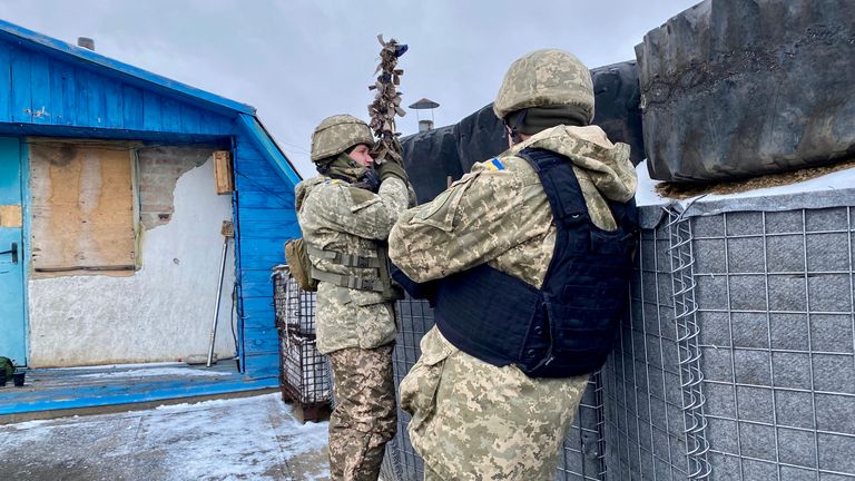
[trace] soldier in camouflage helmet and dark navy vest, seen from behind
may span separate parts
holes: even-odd
[[[552,480],[629,297],[636,173],[629,146],[590,125],[588,69],[529,53],[493,110],[509,150],[390,235],[391,259],[434,305],[401,382],[425,480]]]

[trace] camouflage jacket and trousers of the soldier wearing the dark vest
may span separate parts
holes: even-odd
[[[500,155],[501,169],[475,164],[433,202],[401,215],[390,235],[395,265],[425,282],[487,262],[540,287],[557,230],[537,173],[514,156],[525,147],[568,157],[592,222],[617,228],[605,198],[635,194],[628,146],[612,145],[599,127],[559,126]],[[587,375],[531,379],[463,353],[435,327],[421,350],[401,382],[401,406],[413,416],[410,439],[425,461],[425,480],[553,479]]]

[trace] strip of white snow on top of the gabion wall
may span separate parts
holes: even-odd
[[[650,174],[647,170],[647,159],[642,160],[638,166],[636,166],[636,173],[638,174],[638,192],[636,193],[637,205],[660,205],[674,202],[674,199],[661,197],[659,194],[657,194],[656,186],[660,183],[660,180],[653,180],[650,178]],[[777,187],[747,190],[738,194],[708,194],[702,196],[702,198],[692,197],[679,200],[679,203],[686,206],[696,199],[698,202],[709,202],[749,197],[774,197],[798,193],[836,190],[844,188],[855,188],[855,168],[839,170],[808,180]]]

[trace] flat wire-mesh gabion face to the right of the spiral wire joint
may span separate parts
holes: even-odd
[[[855,195],[782,204],[692,219],[710,479],[855,480]]]

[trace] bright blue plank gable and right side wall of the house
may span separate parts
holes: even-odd
[[[278,383],[271,268],[299,236],[293,166],[252,107],[0,20],[0,129],[7,135],[232,140],[239,354],[246,376]]]

